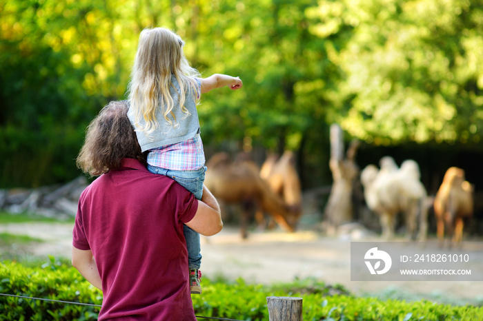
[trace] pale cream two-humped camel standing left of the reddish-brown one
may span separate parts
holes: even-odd
[[[427,214],[426,189],[420,181],[420,169],[413,160],[406,160],[398,169],[393,158],[386,156],[380,161],[381,169],[375,165],[366,166],[361,173],[366,204],[380,216],[382,238],[394,237],[395,218],[404,214],[407,238],[413,238],[419,215],[418,240],[426,240]]]

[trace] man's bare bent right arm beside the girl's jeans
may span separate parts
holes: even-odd
[[[206,186],[203,186],[203,196],[198,200],[195,217],[185,224],[204,236],[215,235],[223,228],[218,202]]]

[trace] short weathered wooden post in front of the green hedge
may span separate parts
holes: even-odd
[[[269,321],[302,321],[302,298],[268,296]]]

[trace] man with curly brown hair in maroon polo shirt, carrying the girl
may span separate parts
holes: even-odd
[[[72,265],[103,291],[99,320],[196,320],[183,224],[217,234],[219,206],[148,172],[127,111],[111,102],[88,127],[77,165],[100,177],[79,199]]]

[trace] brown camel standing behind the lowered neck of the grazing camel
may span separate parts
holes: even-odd
[[[297,170],[295,169],[295,156],[293,152],[286,151],[278,158],[269,154],[260,169],[259,176],[268,183],[270,189],[280,196],[295,218],[302,215],[302,187]],[[256,212],[258,225],[265,226],[263,211]]]

